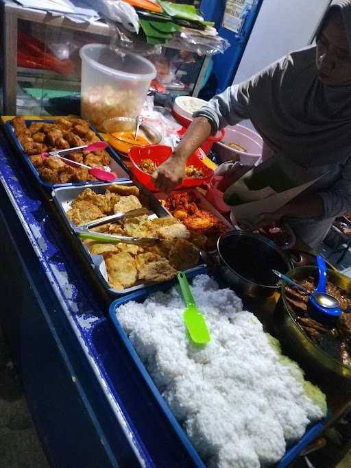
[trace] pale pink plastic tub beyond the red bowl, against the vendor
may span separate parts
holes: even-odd
[[[236,143],[246,151],[231,148],[226,143]],[[261,160],[263,139],[257,132],[237,124],[233,127],[226,127],[226,136],[221,142],[216,143],[215,151],[221,162],[240,161],[244,166],[254,166]]]

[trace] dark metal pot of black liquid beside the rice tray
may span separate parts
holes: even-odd
[[[240,297],[269,297],[280,284],[272,269],[287,273],[293,262],[273,242],[246,231],[222,234],[217,242],[219,273]]]

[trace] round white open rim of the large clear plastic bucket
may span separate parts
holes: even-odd
[[[156,77],[156,68],[152,62],[136,53],[120,56],[104,44],[86,44],[80,49],[80,58],[93,69],[125,79],[149,80]]]

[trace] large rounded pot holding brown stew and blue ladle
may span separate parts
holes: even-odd
[[[330,269],[327,270],[327,274],[333,284],[351,295],[351,278]],[[310,275],[315,277],[317,281],[319,275],[317,267],[298,267],[288,273],[289,278],[298,281],[304,280]],[[282,281],[281,296],[274,314],[275,327],[280,341],[302,366],[318,373],[319,376],[323,375],[324,378],[335,382],[335,385],[337,385],[336,382],[339,382],[350,388],[351,367],[342,365],[339,360],[332,358],[304,333],[304,330],[296,322],[295,314],[287,301],[286,286],[286,282]]]

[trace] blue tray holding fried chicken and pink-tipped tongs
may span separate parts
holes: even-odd
[[[29,127],[29,125],[31,123],[55,123],[55,120],[26,120],[25,121],[25,125],[27,125],[27,127]],[[100,140],[104,140],[103,138],[101,138],[99,132],[97,132],[93,127],[90,126],[90,129],[93,130],[93,132],[95,132],[95,134],[97,134],[97,136],[100,138]],[[68,187],[75,187],[75,186],[82,187],[82,186],[87,186],[87,185],[90,185],[90,184],[101,184],[101,182],[99,180],[97,180],[96,182],[91,181],[91,180],[89,180],[88,182],[69,182],[67,184],[49,184],[48,182],[45,182],[45,181],[41,180],[38,171],[36,170],[36,168],[32,164],[29,157],[27,156],[27,153],[25,153],[25,151],[23,151],[21,143],[19,143],[19,140],[17,139],[16,135],[14,134],[14,128],[12,127],[11,121],[7,121],[5,123],[5,130],[6,130],[7,134],[8,134],[8,136],[10,136],[10,138],[12,140],[12,143],[15,145],[16,150],[21,154],[23,160],[27,163],[27,166],[29,167],[29,170],[32,171],[32,173],[33,173],[34,177],[36,178],[36,180],[38,181],[38,183],[41,186],[43,186],[43,188],[45,188],[45,190],[52,190],[52,188],[55,188],[55,187],[67,187],[67,186]],[[119,157],[117,152],[114,151],[114,149],[112,149],[112,147],[110,145],[108,145],[108,147],[106,147],[106,151],[108,151],[108,153],[110,155],[110,158],[111,158],[110,169],[114,173],[117,173],[117,181],[119,181],[119,180],[130,180],[130,175],[128,173],[128,169],[125,167],[125,165],[121,161],[121,158]]]

